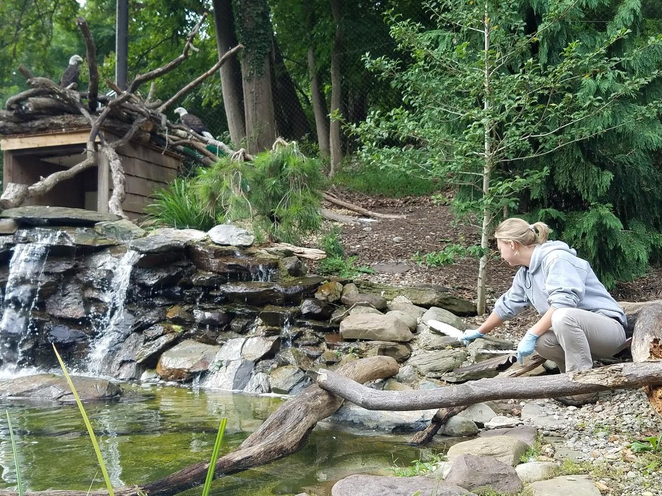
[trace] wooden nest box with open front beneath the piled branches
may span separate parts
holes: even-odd
[[[68,169],[85,159],[89,128],[58,130],[33,134],[13,134],[0,140],[3,151],[3,190],[9,183],[32,185],[54,172]],[[120,136],[107,130],[109,141]],[[117,148],[126,177],[126,198],[122,210],[128,218],[144,216],[156,190],[177,177],[182,157],[149,142],[131,141]],[[97,153],[95,166],[62,181],[41,196],[28,198],[25,205],[64,206],[108,212],[113,194],[110,165]]]

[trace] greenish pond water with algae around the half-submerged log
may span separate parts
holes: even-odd
[[[236,449],[283,399],[162,386],[124,386],[122,401],[86,403],[113,487],[142,484],[209,460],[218,422],[228,417],[220,456]],[[13,419],[25,491],[87,491],[98,471],[75,405],[0,403]],[[15,488],[9,433],[0,427],[0,488]],[[212,496],[330,495],[352,474],[392,475],[393,460],[414,460],[409,436],[354,436],[315,429],[297,453],[216,479]],[[103,489],[97,477],[93,489]],[[202,487],[186,491],[199,496]]]

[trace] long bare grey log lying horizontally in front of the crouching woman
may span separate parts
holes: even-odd
[[[368,410],[426,410],[493,399],[534,399],[662,386],[662,361],[614,364],[555,376],[479,379],[424,391],[377,391],[322,369],[317,384]]]

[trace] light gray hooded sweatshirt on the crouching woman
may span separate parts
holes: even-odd
[[[517,271],[512,286],[495,304],[503,320],[533,305],[540,315],[553,308],[581,308],[617,319],[626,325],[622,308],[602,286],[591,265],[563,241],[537,245],[529,267]]]

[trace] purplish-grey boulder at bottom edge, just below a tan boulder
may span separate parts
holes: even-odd
[[[515,494],[524,487],[512,466],[491,456],[473,454],[457,456],[445,480],[477,493],[491,489],[500,494]]]

